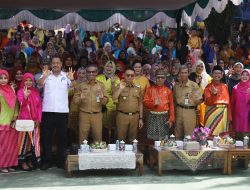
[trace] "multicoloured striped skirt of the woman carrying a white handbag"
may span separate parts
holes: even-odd
[[[18,159],[19,163],[36,159],[40,161],[40,127],[32,132],[18,132]]]

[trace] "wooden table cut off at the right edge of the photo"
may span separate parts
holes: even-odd
[[[243,158],[245,168],[248,167],[248,162],[250,159],[250,148],[235,148],[228,150],[228,165],[227,165],[227,174],[232,174],[232,159],[233,157]]]

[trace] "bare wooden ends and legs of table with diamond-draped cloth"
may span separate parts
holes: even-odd
[[[223,165],[223,174],[227,174],[228,169],[228,151],[227,150],[215,150],[212,154],[210,159],[215,158],[224,158],[224,165]],[[171,150],[159,150],[155,149],[153,146],[150,148],[150,167],[153,168],[153,165],[157,163],[158,165],[158,175],[162,175],[163,163],[169,159],[178,159],[176,158]]]

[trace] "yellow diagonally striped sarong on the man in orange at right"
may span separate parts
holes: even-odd
[[[210,129],[210,136],[228,132],[228,109],[226,105],[207,106],[205,126]]]

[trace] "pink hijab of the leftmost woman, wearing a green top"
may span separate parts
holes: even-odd
[[[9,80],[9,74],[7,71],[0,69],[0,75],[5,75]],[[0,85],[0,92],[3,95],[5,101],[10,106],[11,109],[14,109],[16,103],[16,94],[10,85]]]

